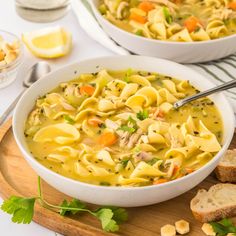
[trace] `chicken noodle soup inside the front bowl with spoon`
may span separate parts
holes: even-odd
[[[32,155],[63,176],[105,186],[145,186],[188,175],[221,149],[222,120],[188,81],[144,71],[81,74],[40,97],[25,137]]]

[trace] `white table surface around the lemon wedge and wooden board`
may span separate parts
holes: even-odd
[[[10,31],[18,36],[22,32],[32,31],[47,26],[61,25],[72,33],[73,51],[64,58],[50,60],[52,69],[82,60],[85,58],[113,55],[112,52],[90,39],[86,33],[80,28],[74,14],[70,11],[64,18],[47,24],[32,23],[23,20],[15,12],[14,0],[0,0],[0,29]],[[33,64],[38,59],[32,56],[25,49],[25,62],[23,69]],[[22,90],[23,76],[19,76],[17,80],[7,88],[0,89],[0,115],[8,107],[11,101]],[[0,204],[2,200],[0,199]],[[52,236],[54,232],[49,231],[36,223],[30,225],[17,225],[11,222],[10,216],[0,211],[0,235],[4,236]]]

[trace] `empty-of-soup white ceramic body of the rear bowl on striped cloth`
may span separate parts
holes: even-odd
[[[104,31],[132,53],[153,56],[179,63],[217,60],[236,52],[236,34],[199,42],[171,42],[140,37],[110,23],[98,11],[99,0],[89,0],[93,13]]]

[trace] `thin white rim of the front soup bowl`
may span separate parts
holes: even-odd
[[[176,66],[179,66],[179,67],[182,67],[182,69],[184,70],[188,70],[188,71],[191,71],[191,73],[194,73],[196,75],[198,75],[199,77],[202,77],[204,79],[206,79],[208,82],[210,82],[212,85],[214,85],[214,83],[212,83],[209,79],[207,79],[205,76],[199,74],[198,72],[194,71],[193,69],[191,68],[188,68],[184,65],[181,65],[179,63],[176,63],[176,62],[172,62],[170,60],[166,60],[166,59],[161,59],[161,58],[155,58],[155,57],[148,57],[148,56],[138,56],[138,55],[128,55],[128,56],[104,56],[104,57],[96,57],[96,58],[92,58],[92,59],[86,59],[86,60],[82,60],[80,62],[76,62],[76,63],[71,63],[71,64],[68,64],[68,65],[65,65],[61,68],[58,68],[54,71],[51,71],[50,73],[48,73],[47,75],[45,75],[43,78],[41,78],[39,81],[35,82],[31,87],[37,87],[37,84],[38,83],[42,83],[41,81],[46,81],[47,80],[47,77],[48,76],[51,76],[52,74],[54,74],[55,72],[58,72],[60,70],[63,70],[64,68],[68,67],[68,66],[73,66],[73,65],[78,65],[80,63],[89,63],[90,61],[94,61],[94,60],[99,60],[99,59],[113,59],[113,58],[123,58],[123,57],[139,57],[139,58],[142,58],[143,60],[145,60],[145,58],[148,58],[148,59],[157,59],[159,61],[162,61],[163,63],[168,63],[168,64],[172,64],[172,65],[176,65]],[[79,65],[78,65],[79,66]],[[70,81],[70,80],[68,80]],[[30,153],[30,152],[27,152],[26,148],[23,147],[23,145],[21,144],[21,141],[19,140],[18,138],[18,134],[16,132],[16,129],[15,127],[17,126],[17,113],[20,112],[20,108],[21,108],[21,101],[24,99],[24,97],[27,96],[29,90],[31,88],[29,88],[24,94],[23,96],[20,98],[17,106],[16,106],[16,109],[14,111],[14,114],[13,114],[13,134],[14,134],[14,137],[15,137],[15,140],[16,140],[16,143],[18,145],[18,147],[20,148],[21,152],[23,153],[23,156],[24,158],[28,159],[29,161],[32,161],[34,162],[34,164],[38,167],[38,168],[42,168],[44,169],[44,171],[46,171],[48,174],[50,175],[54,175],[55,177],[59,178],[59,179],[62,179],[62,180],[65,180],[65,181],[70,181],[70,182],[73,182],[74,184],[77,184],[77,185],[83,185],[84,187],[88,187],[88,188],[97,188],[99,190],[107,190],[107,189],[110,189],[112,191],[140,191],[140,190],[148,190],[148,189],[153,189],[153,188],[162,188],[162,187],[166,187],[166,186],[169,186],[169,185],[173,185],[177,182],[181,182],[182,179],[188,179],[188,178],[191,178],[192,176],[196,175],[198,172],[200,172],[201,170],[204,170],[204,169],[207,169],[211,163],[215,162],[216,160],[218,160],[221,156],[222,156],[222,153],[224,153],[226,151],[226,149],[229,147],[231,141],[232,141],[232,138],[233,138],[233,135],[234,135],[234,124],[235,124],[235,117],[234,117],[234,112],[232,110],[232,107],[229,103],[229,101],[227,100],[226,96],[223,94],[223,93],[218,93],[219,96],[222,96],[222,100],[224,100],[224,102],[226,103],[226,105],[228,106],[228,109],[230,111],[230,116],[233,118],[233,124],[232,125],[232,129],[229,131],[229,136],[226,138],[221,150],[209,161],[207,162],[207,164],[205,164],[203,167],[197,169],[196,171],[188,174],[188,175],[185,175],[181,178],[178,178],[178,179],[174,179],[174,180],[171,180],[171,181],[168,181],[166,183],[162,183],[160,185],[148,185],[148,186],[140,186],[140,187],[122,187],[122,186],[100,186],[100,185],[95,185],[95,184],[89,184],[89,183],[85,183],[85,182],[82,182],[82,181],[79,181],[79,180],[75,180],[75,179],[72,179],[72,178],[69,178],[69,177],[65,177],[61,174],[58,174],[50,169],[48,169],[47,167],[45,167],[44,165],[42,165],[40,162],[38,162],[34,156]],[[222,112],[219,110],[220,114],[222,115]],[[224,126],[224,124],[223,124]],[[225,128],[223,128],[225,130]],[[36,171],[35,171],[36,172]],[[37,174],[37,173],[36,173]],[[41,178],[43,178],[41,176]],[[194,187],[194,186],[193,186]]]

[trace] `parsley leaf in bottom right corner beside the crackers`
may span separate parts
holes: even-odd
[[[218,222],[210,222],[210,224],[217,236],[225,236],[228,233],[236,235],[236,226],[230,219],[224,218]]]

